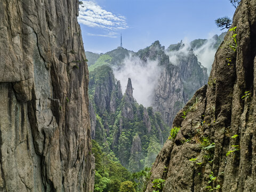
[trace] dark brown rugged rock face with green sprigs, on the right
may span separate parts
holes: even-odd
[[[237,28],[219,47],[208,85],[174,118],[180,131],[151,170],[151,181],[166,180],[163,191],[255,191],[255,10],[255,0],[242,0],[233,18]],[[153,190],[149,182],[147,191]]]

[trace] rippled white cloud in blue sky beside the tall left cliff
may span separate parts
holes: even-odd
[[[101,6],[92,1],[82,1],[83,4],[79,5],[79,23],[92,28],[101,28],[105,30],[121,30],[128,28],[126,18],[122,15],[115,15],[102,9]],[[107,35],[97,35],[107,36]],[[109,36],[108,36],[109,37]],[[110,36],[110,37],[113,37]]]

